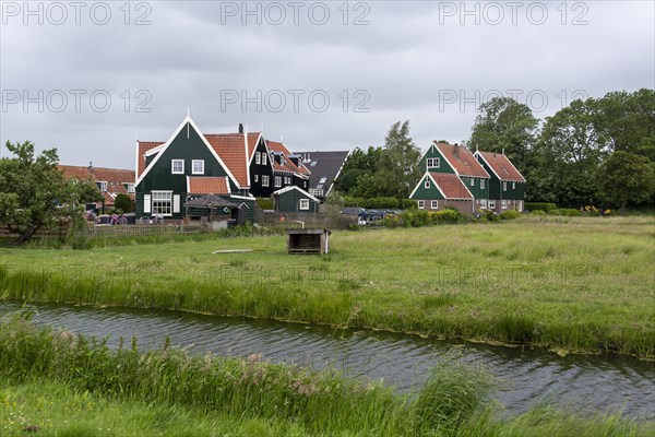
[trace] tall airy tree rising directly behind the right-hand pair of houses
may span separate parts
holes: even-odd
[[[526,175],[539,122],[529,107],[511,97],[493,97],[480,105],[478,111],[468,147],[497,153],[504,150],[519,172]]]

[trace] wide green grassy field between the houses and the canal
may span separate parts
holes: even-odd
[[[121,244],[0,249],[0,297],[655,357],[653,217],[338,232],[324,257],[284,236]]]

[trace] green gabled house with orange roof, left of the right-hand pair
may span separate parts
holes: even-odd
[[[421,178],[424,185],[427,180],[426,178],[428,178],[428,174],[455,175],[473,197],[471,208],[465,212],[466,214],[475,214],[487,208],[490,176],[465,146],[434,141],[421,156],[419,167],[426,172]],[[417,185],[415,191],[419,189],[421,182]],[[439,180],[432,180],[432,182],[439,184]],[[461,200],[460,197],[468,199],[468,197],[461,192],[461,187],[458,187],[458,184],[453,182],[452,178],[443,179],[443,184],[452,185],[452,187],[440,187],[442,191],[457,196],[457,200]],[[437,196],[437,191],[431,192]],[[424,196],[427,192],[421,190],[415,194]],[[410,199],[415,198],[410,197]],[[416,199],[417,201],[419,200],[418,198]],[[430,201],[431,199],[421,198],[420,200]],[[442,199],[434,198],[433,200]],[[460,209],[457,208],[457,210]]]

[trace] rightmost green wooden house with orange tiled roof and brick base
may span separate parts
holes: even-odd
[[[523,212],[525,178],[503,153],[475,152],[475,157],[491,175],[487,208],[502,213],[507,210]]]

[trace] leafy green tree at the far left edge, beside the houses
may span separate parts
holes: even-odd
[[[88,199],[86,182],[68,180],[57,168],[56,149],[36,157],[29,141],[8,141],[7,149],[15,157],[0,160],[0,223],[20,235],[14,245],[25,243],[58,218],[79,213],[80,203],[93,200]]]

